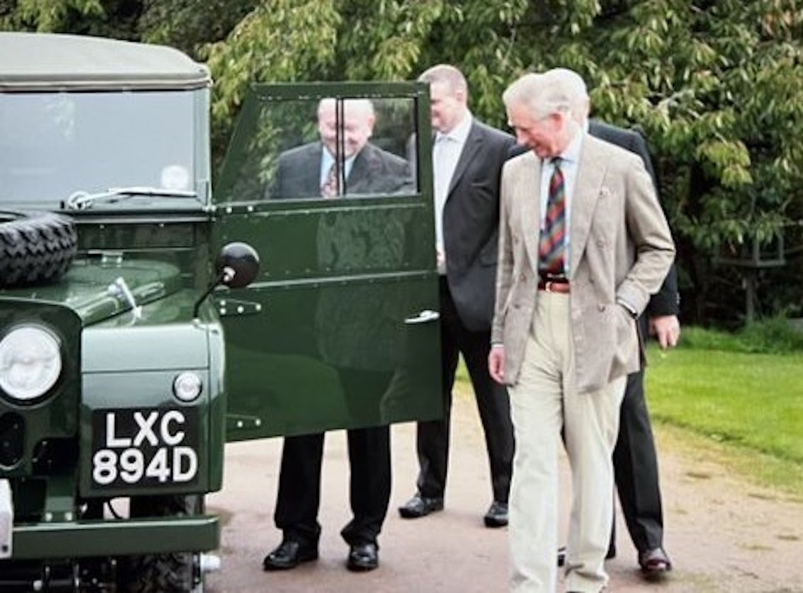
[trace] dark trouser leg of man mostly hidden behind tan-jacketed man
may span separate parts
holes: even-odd
[[[627,377],[619,423],[613,475],[630,538],[636,549],[644,552],[662,546],[663,512],[643,369]]]

